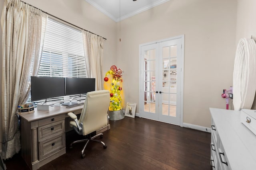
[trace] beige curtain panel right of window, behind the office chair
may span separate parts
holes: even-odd
[[[95,78],[95,90],[103,90],[102,51],[104,39],[82,30],[86,73],[88,78]]]

